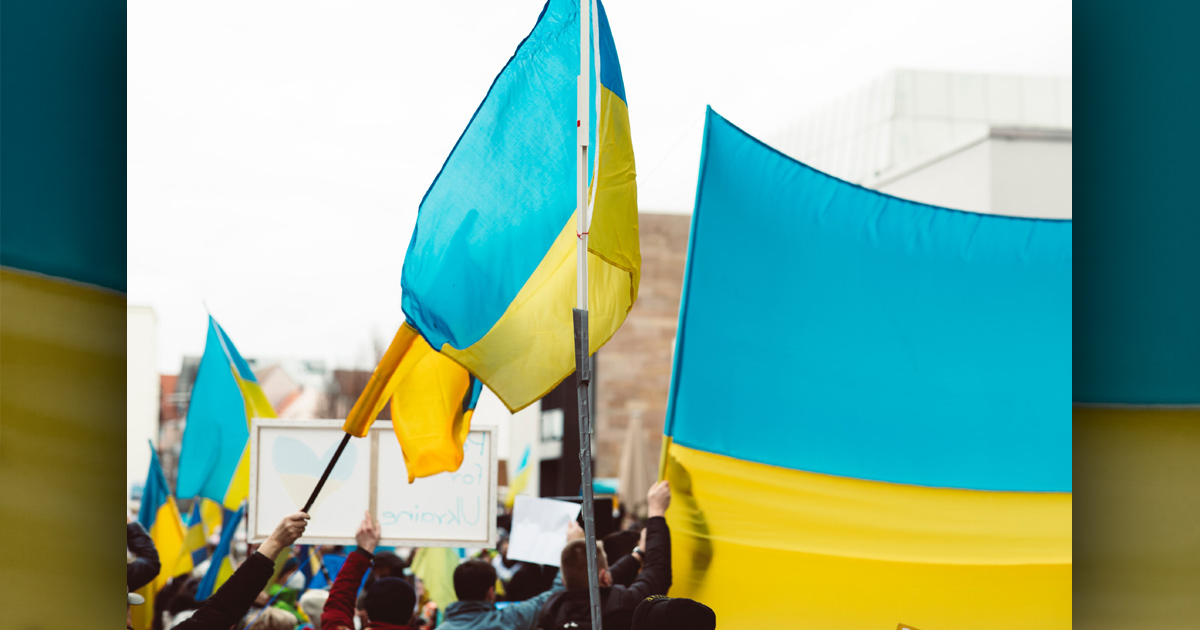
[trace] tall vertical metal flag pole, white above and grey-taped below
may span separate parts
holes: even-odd
[[[588,344],[588,140],[590,137],[590,90],[589,67],[592,49],[592,20],[589,19],[592,0],[580,0],[580,76],[577,89],[578,130],[576,158],[576,208],[578,223],[576,233],[577,274],[575,298],[577,307],[574,311],[575,323],[575,383],[576,398],[580,409],[580,468],[583,473],[583,534],[588,552],[588,595],[592,608],[592,628],[601,630],[600,622],[600,576],[596,570],[596,526],[595,505],[592,499],[592,410],[589,408],[589,386],[592,380],[592,361]],[[599,59],[598,59],[599,61]],[[599,80],[599,76],[596,77]],[[599,125],[599,110],[596,112]]]

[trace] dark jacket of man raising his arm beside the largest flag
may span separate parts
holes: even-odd
[[[642,572],[629,580],[632,566],[626,558],[613,565],[613,586],[600,588],[600,619],[605,630],[629,630],[634,610],[650,595],[666,595],[671,588],[671,530],[666,518],[656,516],[646,522],[646,560]],[[629,557],[631,558],[631,557]],[[634,560],[636,562],[636,560]],[[541,608],[540,630],[560,630],[568,622],[583,628],[592,624],[588,588],[572,588],[552,596]],[[586,625],[584,625],[586,624]]]

